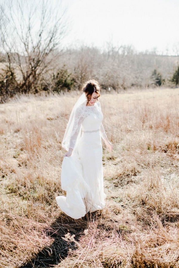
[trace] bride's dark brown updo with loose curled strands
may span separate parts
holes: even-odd
[[[83,84],[82,90],[86,94],[87,104],[90,101],[92,93],[96,92],[98,93],[98,97],[100,96],[100,93],[99,93],[100,89],[101,89],[100,84],[98,83],[98,81],[94,79],[91,79]],[[97,101],[98,101],[98,97],[97,97]]]

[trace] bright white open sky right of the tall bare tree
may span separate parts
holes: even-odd
[[[133,45],[173,54],[179,45],[179,0],[62,0],[70,32],[66,44]]]

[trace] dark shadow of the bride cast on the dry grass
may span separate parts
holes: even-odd
[[[44,247],[30,261],[24,263],[18,268],[49,268],[59,264],[67,257],[69,249],[75,250],[74,242],[67,242],[62,239],[67,232],[75,234],[75,240],[78,241],[84,230],[88,228],[88,223],[95,217],[95,212],[85,215],[85,217],[75,220],[63,213],[53,222],[53,224],[44,230],[47,235],[54,239],[50,247]]]

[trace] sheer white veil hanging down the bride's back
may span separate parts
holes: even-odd
[[[71,133],[72,133],[72,129],[73,129],[73,124],[74,124],[74,119],[75,119],[75,112],[77,110],[77,108],[86,101],[86,94],[83,93],[80,98],[78,99],[78,101],[75,103],[72,112],[70,114],[70,118],[68,120],[67,123],[67,128],[65,130],[65,134],[64,134],[64,138],[62,141],[62,147],[68,151],[69,149],[69,144],[70,144],[70,137],[71,137]],[[81,131],[79,132],[81,133]],[[79,135],[78,135],[79,136]],[[78,138],[77,138],[78,140]]]

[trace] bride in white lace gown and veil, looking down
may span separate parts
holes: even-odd
[[[62,141],[67,150],[61,167],[61,188],[66,197],[56,197],[61,210],[75,219],[104,208],[101,137],[112,151],[102,125],[99,83],[87,81],[83,92],[73,107]]]

